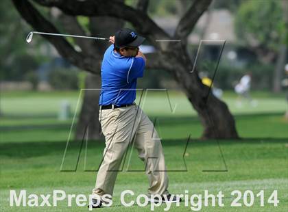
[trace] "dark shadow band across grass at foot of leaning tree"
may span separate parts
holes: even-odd
[[[217,145],[217,141],[223,145],[235,145],[235,144],[265,144],[265,143],[288,143],[287,139],[282,138],[245,138],[241,140],[196,140],[191,139],[188,145],[196,146],[211,146]],[[85,143],[85,142],[84,142]],[[175,146],[183,148],[187,144],[187,140],[162,140],[163,147]],[[59,142],[23,142],[23,143],[3,143],[0,144],[0,156],[13,157],[13,158],[29,158],[44,155],[63,155],[66,141]],[[69,151],[73,154],[78,154],[82,146],[82,141],[77,140],[69,142]],[[88,149],[99,150],[103,152],[105,147],[104,140],[90,140],[88,141]],[[84,153],[84,147],[82,153]]]

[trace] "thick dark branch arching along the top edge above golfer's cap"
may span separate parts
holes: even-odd
[[[64,0],[33,0],[36,3],[48,7],[57,7],[64,13],[71,16],[112,16],[129,21],[135,29],[145,36],[156,49],[165,49],[163,42],[156,42],[158,39],[170,39],[170,36],[145,12],[131,8],[119,1],[110,0],[70,0],[69,3]]]

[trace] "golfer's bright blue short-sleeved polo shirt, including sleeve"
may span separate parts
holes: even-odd
[[[142,57],[124,57],[106,49],[101,66],[99,105],[127,105],[135,101],[137,78],[143,77]]]

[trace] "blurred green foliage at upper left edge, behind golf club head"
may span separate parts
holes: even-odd
[[[37,36],[27,45],[25,38],[32,29],[21,21],[16,10],[10,8],[13,8],[11,1],[0,1],[0,80],[21,81],[45,57],[40,53],[41,42]]]

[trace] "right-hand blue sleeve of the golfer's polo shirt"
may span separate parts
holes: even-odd
[[[132,62],[127,75],[127,83],[133,79],[143,77],[145,61],[142,57],[132,57]]]

